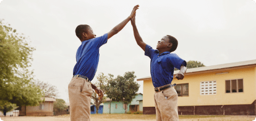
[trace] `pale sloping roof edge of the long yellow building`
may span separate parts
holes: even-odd
[[[190,69],[187,69],[186,74],[192,74],[194,72],[211,71],[211,70],[217,70],[217,69],[234,68],[234,67],[239,67],[239,66],[255,67],[256,66],[256,60],[239,61],[239,62],[235,62],[235,63],[225,63],[225,64],[218,64],[218,65],[214,65],[214,66],[199,67],[199,68],[190,68]],[[177,72],[179,72],[179,70],[174,71],[174,75],[177,74]],[[151,76],[147,76],[147,77],[137,79],[137,81],[145,80],[145,79],[151,79]]]

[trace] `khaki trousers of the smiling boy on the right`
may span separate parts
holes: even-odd
[[[174,87],[155,92],[156,121],[179,120],[177,92]]]

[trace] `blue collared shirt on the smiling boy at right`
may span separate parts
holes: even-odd
[[[150,57],[150,74],[154,87],[171,84],[173,80],[174,67],[181,69],[181,64],[187,66],[186,61],[179,58],[175,53],[163,52],[152,49],[146,45],[145,55]]]

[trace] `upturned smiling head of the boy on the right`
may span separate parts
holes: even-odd
[[[168,50],[169,52],[174,52],[177,49],[177,39],[173,36],[166,35],[164,36],[161,41],[158,41],[156,45],[156,49],[158,50]]]

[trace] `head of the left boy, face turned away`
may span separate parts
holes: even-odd
[[[75,34],[79,37],[80,41],[87,41],[96,37],[96,34],[93,33],[93,29],[89,25],[78,25],[75,28]]]

